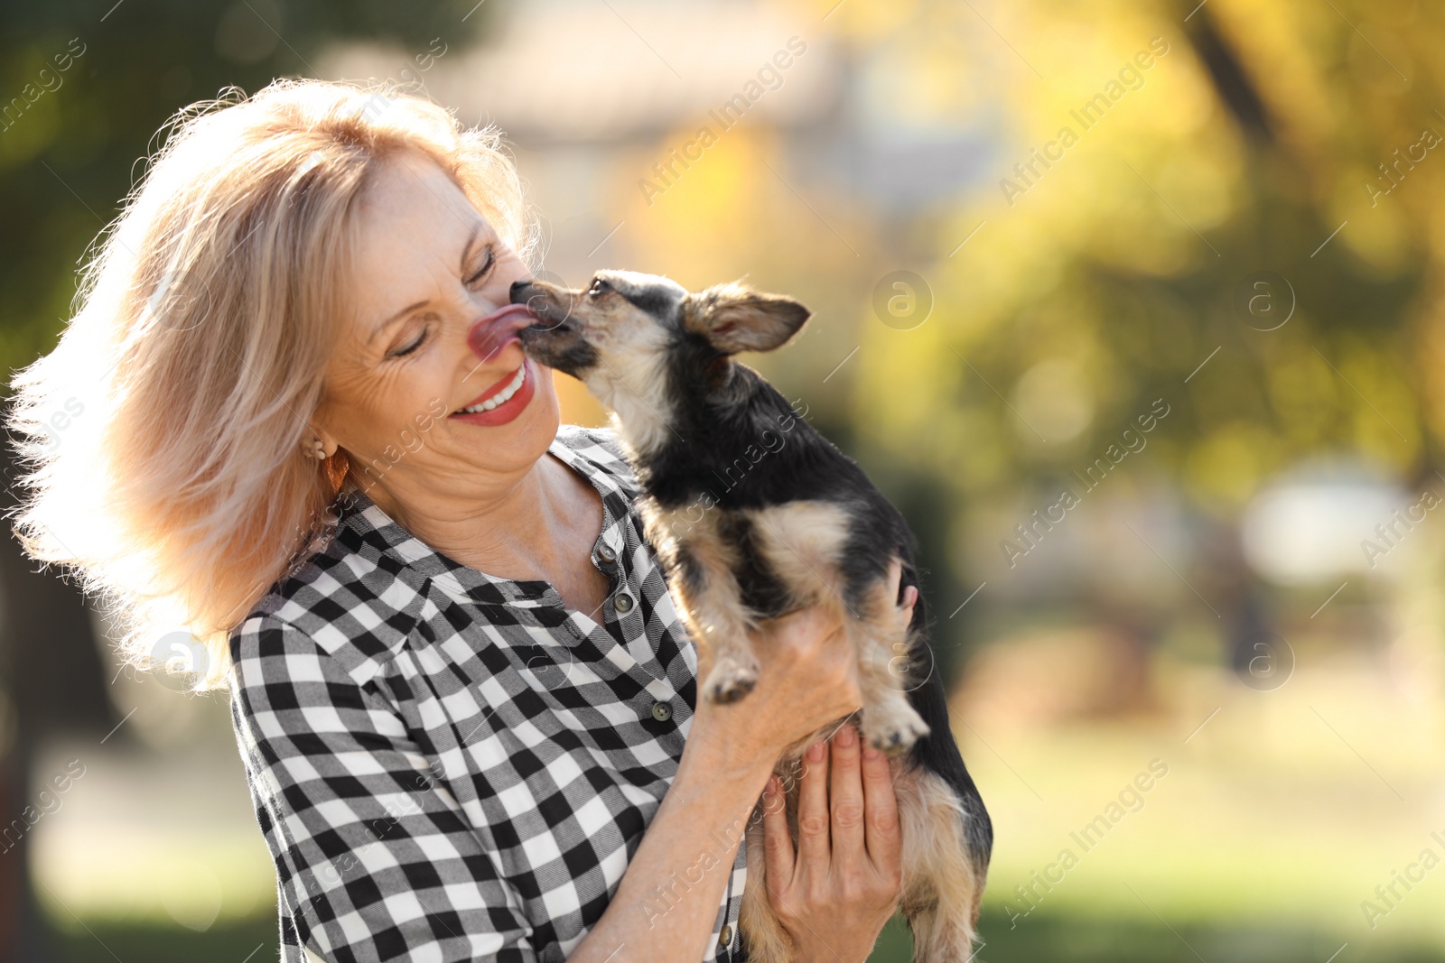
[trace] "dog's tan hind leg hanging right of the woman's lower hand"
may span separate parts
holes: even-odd
[[[893,788],[903,827],[899,908],[913,930],[913,963],[967,963],[987,876],[968,850],[970,816],[933,772],[896,764]]]

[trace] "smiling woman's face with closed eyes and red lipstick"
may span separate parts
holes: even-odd
[[[551,370],[525,358],[514,325],[500,325],[486,358],[467,335],[510,303],[526,266],[425,154],[387,162],[357,215],[351,313],[314,422],[327,450],[347,450],[383,508],[525,474],[556,435]],[[499,396],[510,400],[462,411]]]

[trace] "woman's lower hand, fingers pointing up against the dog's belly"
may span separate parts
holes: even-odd
[[[918,589],[909,586],[899,608],[903,629],[916,599]],[[798,963],[867,960],[897,907],[903,878],[887,757],[864,746],[851,725],[829,742],[831,767],[824,741],[803,754],[796,850],[776,775],[763,796],[767,895],[793,938]]]

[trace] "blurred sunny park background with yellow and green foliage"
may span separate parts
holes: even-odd
[[[409,84],[506,131],[553,279],[814,309],[753,361],[922,541],[978,960],[1445,959],[1441,4],[0,10],[6,371],[173,111]],[[0,616],[0,959],[276,959],[224,697],[9,533]]]

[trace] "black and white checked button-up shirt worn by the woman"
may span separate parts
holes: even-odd
[[[603,497],[601,624],[548,582],[448,559],[351,491],[329,544],[231,632],[286,963],[564,960],[672,784],[696,653],[636,479],[611,432],[564,426],[549,450]],[[705,960],[744,959],[744,858]]]

